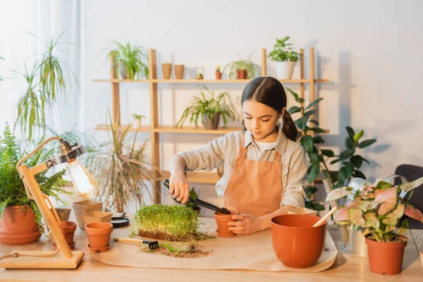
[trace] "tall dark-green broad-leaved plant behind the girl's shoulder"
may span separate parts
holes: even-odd
[[[312,196],[317,192],[317,188],[314,185],[311,185],[314,180],[317,178],[319,173],[328,178],[331,183],[333,183],[333,188],[343,187],[345,180],[350,180],[350,178],[360,177],[366,178],[364,173],[360,171],[360,168],[364,162],[369,164],[367,159],[361,157],[357,153],[357,149],[364,149],[374,144],[376,140],[364,140],[360,141],[364,135],[364,131],[361,130],[359,133],[355,133],[353,128],[349,126],[346,127],[348,132],[348,137],[345,138],[344,149],[339,155],[336,155],[331,149],[317,149],[319,145],[324,144],[324,138],[320,134],[326,133],[324,129],[319,128],[319,122],[317,120],[310,120],[311,116],[317,113],[317,109],[313,109],[314,106],[319,104],[323,98],[319,98],[314,102],[310,103],[308,106],[305,106],[305,99],[301,98],[297,93],[295,93],[290,88],[286,88],[290,92],[295,101],[298,102],[298,106],[291,106],[288,109],[289,114],[301,113],[302,117],[295,120],[295,125],[300,131],[300,143],[302,147],[307,152],[307,155],[310,160],[310,166],[308,170],[308,182],[309,186],[305,189],[307,194],[307,200],[305,207],[314,210],[323,210],[324,207],[321,204],[317,204],[312,201]],[[312,123],[314,126],[312,126]],[[315,135],[319,134],[319,135]],[[336,170],[329,170],[327,162],[330,161],[330,164],[336,164],[338,162],[342,163],[341,168]]]

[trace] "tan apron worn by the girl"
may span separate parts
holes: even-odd
[[[281,207],[281,154],[274,161],[246,159],[247,148],[241,142],[228,186],[223,193],[223,207],[240,214],[263,216]]]

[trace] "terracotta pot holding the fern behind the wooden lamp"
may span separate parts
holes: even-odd
[[[0,218],[0,243],[23,244],[41,237],[35,214],[29,207],[20,212],[18,206],[8,206]]]

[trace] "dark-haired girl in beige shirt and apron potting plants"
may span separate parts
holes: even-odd
[[[173,156],[169,192],[182,204],[190,185],[185,171],[212,171],[224,165],[216,183],[223,207],[237,212],[228,223],[237,234],[270,228],[274,216],[304,207],[307,179],[305,151],[295,142],[298,130],[286,111],[286,93],[271,77],[251,80],[241,97],[244,131]],[[283,118],[283,124],[277,122]]]

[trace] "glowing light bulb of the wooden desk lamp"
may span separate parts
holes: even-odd
[[[91,173],[87,171],[85,166],[82,166],[80,161],[75,160],[68,164],[69,176],[73,183],[73,188],[79,197],[89,199],[94,196],[99,189],[97,182],[92,177]]]

